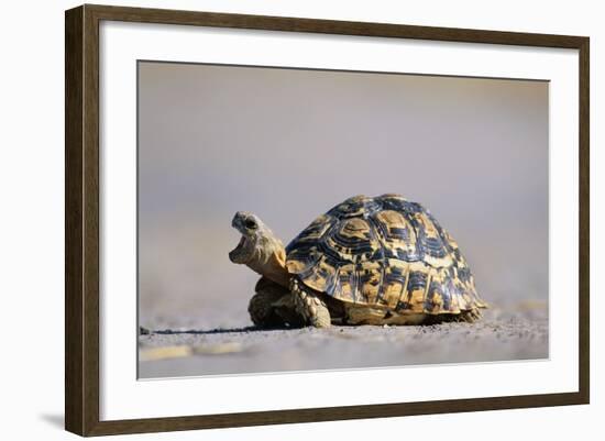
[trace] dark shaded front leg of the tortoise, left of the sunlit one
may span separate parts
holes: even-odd
[[[283,286],[261,277],[256,294],[250,299],[248,311],[258,328],[302,327],[305,318],[297,313],[290,291]]]

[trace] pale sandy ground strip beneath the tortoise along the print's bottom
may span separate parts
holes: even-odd
[[[328,330],[153,327],[143,332],[140,378],[548,357],[548,308],[541,301],[492,307],[472,324]]]

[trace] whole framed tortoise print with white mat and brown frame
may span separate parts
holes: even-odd
[[[67,430],[588,403],[587,37],[65,20]]]

